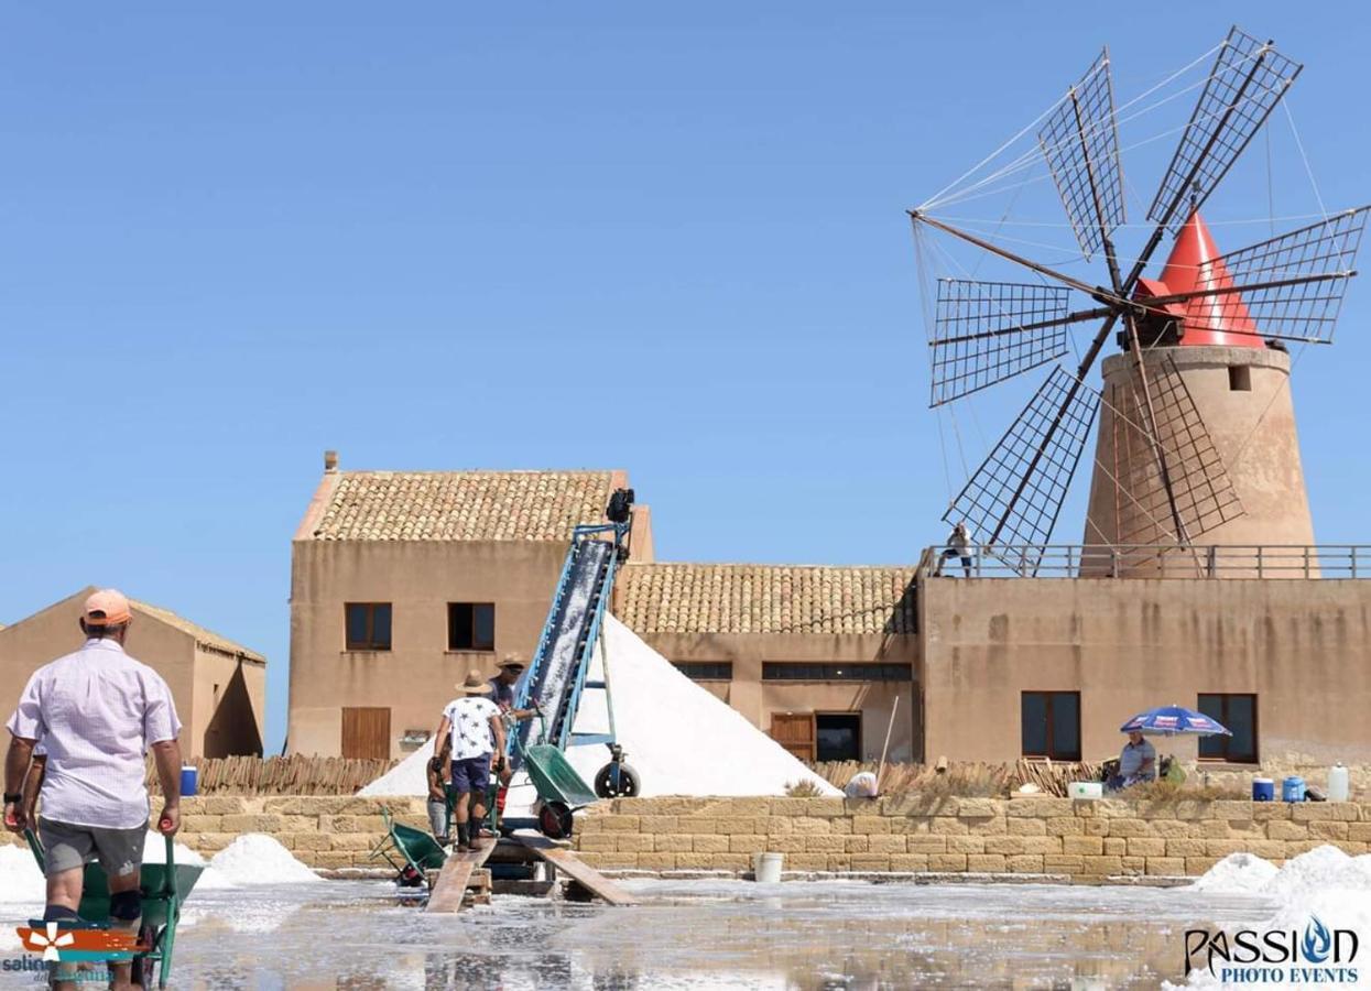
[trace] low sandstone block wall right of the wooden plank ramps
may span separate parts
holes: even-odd
[[[617,799],[576,846],[600,869],[1196,876],[1231,853],[1283,862],[1333,843],[1371,850],[1371,805],[1075,802],[1058,798]]]

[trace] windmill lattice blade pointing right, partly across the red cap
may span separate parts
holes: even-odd
[[[1224,273],[1239,286],[1294,278],[1311,281],[1212,296],[1191,307],[1200,313],[1186,318],[1186,328],[1223,330],[1239,322],[1245,308],[1263,337],[1331,344],[1348,281],[1356,274],[1353,265],[1367,210],[1348,210],[1205,262],[1200,266],[1200,288],[1222,285]]]

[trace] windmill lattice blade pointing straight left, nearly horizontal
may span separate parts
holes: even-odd
[[[938,280],[928,340],[930,406],[942,406],[1067,354],[1064,286]]]

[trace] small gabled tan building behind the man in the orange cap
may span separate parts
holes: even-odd
[[[14,711],[29,677],[84,641],[81,609],[95,587],[0,629],[0,710]],[[262,754],[266,658],[171,610],[130,600],[128,651],[166,678],[186,757]]]

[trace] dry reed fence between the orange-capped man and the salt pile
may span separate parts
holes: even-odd
[[[199,772],[202,795],[352,795],[398,761],[343,757],[215,757],[186,761]],[[154,792],[156,768],[148,759],[145,780]]]

